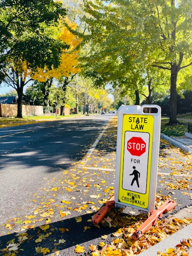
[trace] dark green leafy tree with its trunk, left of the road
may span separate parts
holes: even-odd
[[[0,2],[0,78],[17,90],[17,117],[22,117],[29,74],[37,67],[58,67],[62,49],[68,47],[55,34],[60,16],[65,16],[65,9],[53,0]]]

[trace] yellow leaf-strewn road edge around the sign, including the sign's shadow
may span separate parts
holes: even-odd
[[[40,188],[31,198],[31,207],[25,213],[20,212],[20,216],[1,225],[2,255],[24,256],[27,252],[27,255],[56,256],[60,250],[73,246],[74,255],[132,256],[191,223],[192,220],[186,218],[159,220],[137,241],[131,235],[147,219],[142,214],[134,211],[124,213],[123,209],[115,208],[99,225],[92,224],[94,214],[114,195],[116,130],[117,118],[114,117],[91,154],[72,164],[71,168],[60,170],[61,177],[48,181],[46,187]],[[183,193],[189,191],[190,194],[190,155],[161,140],[159,168],[172,168],[172,173],[170,183],[160,181],[162,187],[167,189],[167,196],[161,191],[156,194],[157,208],[172,198],[174,189],[181,189]],[[84,237],[86,240],[83,240]],[[89,247],[84,245],[87,241],[90,241]],[[159,255],[188,255],[186,248],[191,246],[192,240],[183,240],[176,248],[167,248]],[[178,254],[180,252],[183,254]]]

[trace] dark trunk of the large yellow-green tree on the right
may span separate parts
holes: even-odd
[[[169,124],[177,124],[177,91],[176,91],[176,79],[178,74],[178,66],[172,64],[171,66],[171,86],[170,86],[170,121]]]

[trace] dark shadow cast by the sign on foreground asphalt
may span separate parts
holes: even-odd
[[[37,254],[36,250],[38,250],[38,247],[48,248],[50,253],[56,252],[78,244],[91,243],[90,241],[96,238],[100,238],[100,241],[102,241],[102,235],[109,235],[117,230],[114,227],[95,227],[92,222],[88,221],[92,219],[92,215],[86,214],[80,216],[82,218],[81,222],[76,222],[76,218],[69,218],[67,220],[49,223],[49,228],[45,230],[43,230],[43,227],[46,225],[1,236],[0,250],[2,250],[2,255],[7,252],[7,249],[4,248],[9,248],[10,250],[10,244],[17,245],[18,249],[16,251],[11,250],[11,252],[16,252],[17,256],[33,256]],[[90,244],[87,244],[87,248],[89,246]],[[75,254],[74,248],[71,251],[72,255]]]

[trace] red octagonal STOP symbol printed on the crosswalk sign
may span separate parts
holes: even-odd
[[[146,151],[146,143],[141,137],[132,137],[127,141],[127,150],[140,157]]]

